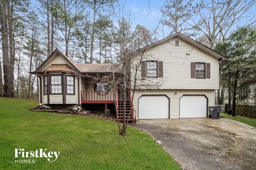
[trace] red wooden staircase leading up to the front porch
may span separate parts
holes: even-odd
[[[126,100],[125,102],[122,100],[118,100],[118,98],[116,100],[116,118],[117,118],[117,121],[119,122],[123,122],[125,117],[125,121],[128,120],[129,122],[135,123],[134,107],[132,106],[131,95],[129,99],[130,100]]]

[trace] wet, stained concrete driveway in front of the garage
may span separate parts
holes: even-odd
[[[138,120],[182,169],[255,169],[256,129],[220,118]]]

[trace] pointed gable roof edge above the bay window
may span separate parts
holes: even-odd
[[[54,60],[55,57],[63,57],[67,61],[67,64],[69,64],[69,66],[72,67],[72,69],[79,72],[79,69],[78,69],[77,65],[73,61],[71,61],[67,56],[62,54],[59,49],[55,49],[54,52],[48,58],[46,58],[46,60],[33,73],[44,71],[42,69],[45,66],[47,66],[47,64],[51,63],[52,60]],[[45,70],[46,69],[47,68],[45,68]]]

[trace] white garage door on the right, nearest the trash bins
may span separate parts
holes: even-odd
[[[180,118],[206,117],[207,99],[205,96],[182,96],[180,98]]]

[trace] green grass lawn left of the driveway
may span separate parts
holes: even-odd
[[[29,112],[37,101],[0,98],[0,169],[180,169],[149,135],[116,122],[69,114]],[[51,163],[15,163],[14,149],[60,151]]]

